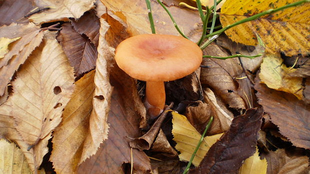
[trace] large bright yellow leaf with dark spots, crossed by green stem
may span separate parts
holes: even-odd
[[[298,0],[226,0],[220,12],[224,26]],[[235,42],[256,45],[256,33],[266,45],[266,52],[275,54],[283,51],[286,55],[308,54],[310,50],[309,20],[310,3],[286,8],[242,23],[225,31]]]

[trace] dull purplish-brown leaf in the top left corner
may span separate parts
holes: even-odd
[[[2,0],[0,3],[0,26],[10,23],[28,22],[26,15],[34,8],[32,0]]]

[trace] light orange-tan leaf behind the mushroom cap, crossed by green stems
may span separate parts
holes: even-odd
[[[128,31],[131,35],[151,33],[147,15],[147,8],[144,1],[130,0],[123,3],[121,0],[101,0],[101,2],[111,10],[115,15],[125,21],[128,25]],[[170,17],[159,3],[150,0],[151,9],[154,15],[154,24],[156,33],[179,35],[174,28]],[[184,34],[188,32],[200,22],[200,17],[197,11],[186,8],[178,8],[177,6],[167,7],[173,15],[177,25],[182,28]]]

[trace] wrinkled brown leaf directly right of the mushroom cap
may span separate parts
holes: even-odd
[[[207,55],[229,56],[220,46],[212,43],[205,49]],[[226,60],[203,58],[202,65],[209,68],[202,68],[200,73],[201,84],[210,86],[214,92],[220,96],[231,108],[246,108],[244,100],[237,94],[237,85],[233,78],[240,77],[241,66],[237,59]]]

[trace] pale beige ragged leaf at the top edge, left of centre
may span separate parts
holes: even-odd
[[[95,0],[35,0],[38,7],[50,7],[29,17],[36,24],[57,20],[68,21],[69,17],[79,18],[93,7]]]

